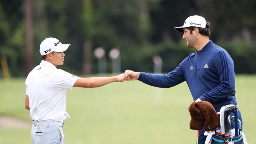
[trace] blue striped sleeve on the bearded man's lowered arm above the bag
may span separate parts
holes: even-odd
[[[234,62],[228,52],[218,52],[213,62],[220,84],[210,92],[200,96],[200,100],[208,102],[217,102],[235,94]]]

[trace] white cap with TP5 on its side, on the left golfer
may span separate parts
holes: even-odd
[[[51,52],[64,52],[70,44],[62,44],[57,38],[46,38],[40,44],[40,54],[42,56]]]

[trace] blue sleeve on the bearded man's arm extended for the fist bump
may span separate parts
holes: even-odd
[[[182,67],[180,65],[168,74],[148,74],[140,72],[138,80],[150,86],[159,88],[170,88],[172,86],[176,86],[177,84],[185,81]]]

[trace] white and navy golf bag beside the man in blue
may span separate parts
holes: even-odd
[[[207,136],[205,144],[247,144],[244,133],[241,131],[241,121],[238,120],[238,109],[234,104],[222,106],[220,109],[220,127],[210,132],[205,132]],[[230,117],[230,113],[234,116]],[[231,128],[234,124],[235,128]]]

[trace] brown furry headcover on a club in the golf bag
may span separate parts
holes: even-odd
[[[220,126],[220,116],[216,113],[210,102],[199,101],[192,102],[188,107],[190,112],[190,129],[206,131],[215,130]]]

